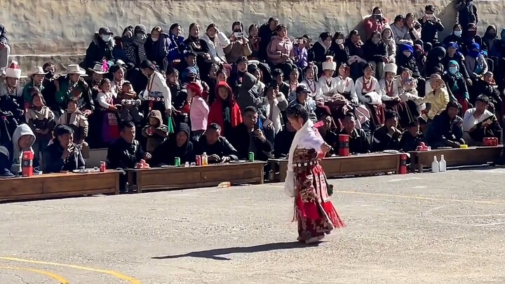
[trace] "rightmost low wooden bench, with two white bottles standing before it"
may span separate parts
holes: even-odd
[[[459,165],[483,165],[492,163],[499,158],[503,145],[494,147],[469,147],[469,148],[454,148],[454,149],[435,149],[431,151],[411,151],[410,170],[414,172],[418,170],[423,172],[423,168],[431,168],[433,156],[440,161],[440,156],[444,155],[447,167],[455,167]]]

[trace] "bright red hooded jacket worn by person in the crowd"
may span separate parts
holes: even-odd
[[[231,126],[235,127],[242,123],[242,114],[240,107],[235,101],[233,92],[227,82],[219,82],[215,87],[216,99],[210,104],[209,114],[208,114],[208,124],[217,123],[221,126],[221,135],[224,135],[224,115],[223,115],[223,100],[219,95],[219,88],[227,88],[228,90],[228,102],[230,106],[230,119]]]

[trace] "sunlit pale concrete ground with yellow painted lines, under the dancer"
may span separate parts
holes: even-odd
[[[505,169],[332,180],[296,243],[282,184],[0,205],[0,283],[505,283]]]

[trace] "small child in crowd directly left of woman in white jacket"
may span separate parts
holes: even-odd
[[[136,124],[142,121],[142,114],[139,111],[141,102],[130,81],[123,82],[121,92],[118,93],[115,101],[121,104],[121,121],[133,120]]]

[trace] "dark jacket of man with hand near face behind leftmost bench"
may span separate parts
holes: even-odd
[[[74,151],[65,159],[62,160],[63,148],[58,140],[54,139],[53,144],[50,144],[43,153],[43,164],[45,173],[60,173],[64,171],[72,171],[86,168],[86,161],[81,154],[81,150],[74,144]]]

